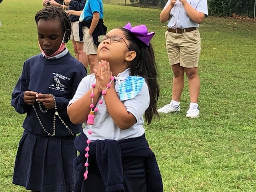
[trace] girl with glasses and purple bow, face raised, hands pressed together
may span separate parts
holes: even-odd
[[[98,37],[99,68],[80,82],[68,105],[80,155],[74,192],[162,192],[162,178],[143,128],[158,115],[154,51],[145,25]]]

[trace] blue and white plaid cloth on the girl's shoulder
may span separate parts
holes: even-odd
[[[126,81],[118,87],[120,100],[128,100],[134,98],[141,90],[145,79],[138,76],[128,76]]]

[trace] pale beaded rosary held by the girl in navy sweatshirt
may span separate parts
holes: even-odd
[[[44,132],[46,132],[48,135],[50,135],[50,136],[52,136],[52,137],[55,136],[55,133],[56,133],[56,116],[58,116],[58,118],[60,119],[60,122],[62,122],[62,124],[64,124],[64,126],[68,129],[68,132],[70,132],[70,133],[72,134],[72,136],[74,136],[74,134],[72,133],[72,130],[70,130],[70,128],[65,124],[65,122],[62,120],[62,118],[60,118],[59,113],[57,112],[57,104],[56,104],[56,99],[55,99],[54,95],[52,95],[52,94],[50,94],[50,95],[51,95],[52,98],[53,98],[53,101],[54,101],[54,109],[55,109],[55,113],[54,113],[54,116],[53,116],[53,133],[52,133],[52,134],[50,134],[50,133],[44,128],[44,125],[43,125],[43,123],[42,123],[42,121],[41,121],[41,119],[40,119],[38,113],[36,112],[35,106],[34,106],[34,105],[32,106],[33,109],[34,109],[34,111],[35,111],[35,113],[36,113],[36,117],[37,117],[37,119],[38,119],[40,125],[42,126],[42,129],[43,129]],[[40,102],[38,102],[38,106],[39,106],[39,109],[40,109],[41,112],[43,112],[43,113],[47,113],[47,112],[48,112],[48,109],[46,109],[46,110],[43,110],[43,109],[42,109]]]

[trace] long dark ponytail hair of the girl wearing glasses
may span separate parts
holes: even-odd
[[[158,116],[156,103],[159,97],[159,85],[157,82],[157,66],[152,44],[149,46],[144,44],[141,40],[136,38],[129,30],[120,28],[124,32],[124,36],[130,42],[129,48],[136,52],[136,57],[132,60],[128,67],[130,67],[131,76],[141,76],[145,78],[148,84],[150,94],[150,104],[145,111],[145,119],[148,124],[151,123],[154,116]]]

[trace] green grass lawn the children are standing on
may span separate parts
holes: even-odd
[[[34,15],[40,8],[40,0],[0,4],[0,192],[26,191],[12,184],[25,116],[15,112],[10,98],[24,60],[39,53]],[[165,49],[167,23],[160,23],[160,11],[104,2],[108,30],[131,22],[156,32],[152,44],[159,70],[158,107],[170,102],[173,76]],[[254,192],[256,21],[208,17],[200,25],[200,34],[200,117],[185,118],[190,102],[186,82],[181,111],[160,114],[160,119],[145,126],[164,192]],[[73,54],[71,42],[67,46]]]

